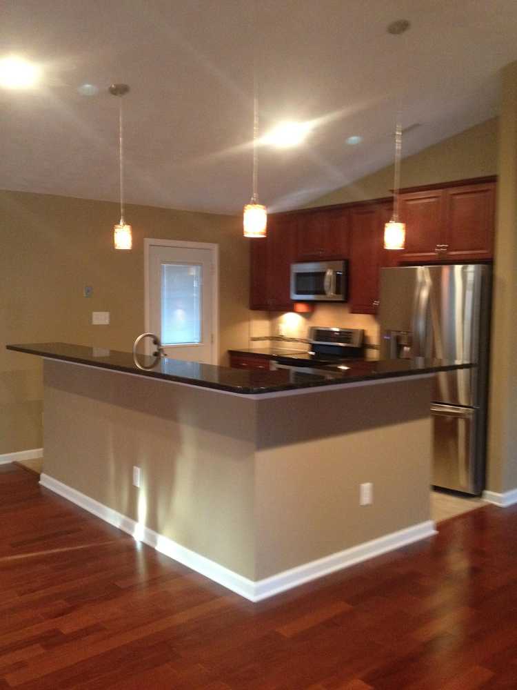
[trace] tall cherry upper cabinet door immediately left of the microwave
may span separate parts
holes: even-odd
[[[296,250],[298,215],[273,216],[267,223],[268,308],[291,311],[291,264]]]

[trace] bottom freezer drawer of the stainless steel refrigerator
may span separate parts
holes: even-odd
[[[444,489],[478,493],[476,423],[478,411],[453,405],[432,405],[433,484]]]

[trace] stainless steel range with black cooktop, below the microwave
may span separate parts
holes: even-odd
[[[319,368],[339,366],[349,359],[364,358],[364,334],[361,328],[310,328],[307,352],[276,357],[272,368]]]

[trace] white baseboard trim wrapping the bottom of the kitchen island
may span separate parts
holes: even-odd
[[[252,602],[258,602],[272,597],[287,589],[292,589],[305,582],[310,582],[310,580],[321,578],[323,575],[329,575],[330,573],[342,570],[356,563],[361,563],[369,558],[374,558],[377,555],[381,555],[381,553],[400,549],[401,546],[407,546],[407,544],[412,544],[413,542],[436,534],[434,522],[432,520],[427,520],[407,527],[406,529],[401,529],[397,532],[379,537],[378,539],[365,542],[364,544],[352,546],[351,549],[332,553],[324,558],[319,558],[318,560],[305,563],[301,566],[296,566],[296,568],[277,573],[270,578],[254,581],[244,578],[243,575],[239,575],[239,573],[234,573],[234,571],[225,568],[209,558],[205,558],[195,551],[185,548],[185,546],[181,546],[181,544],[154,532],[144,525],[138,524],[130,517],[117,513],[117,511],[55,480],[53,477],[42,474],[39,483],[45,486],[46,489],[50,489],[50,491],[54,491],[54,493],[63,496],[72,503],[81,506],[81,508],[89,513],[97,515],[101,520],[109,522],[115,527],[127,532],[136,540],[148,544],[148,546],[152,546],[156,551],[160,551]]]

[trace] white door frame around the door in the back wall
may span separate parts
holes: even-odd
[[[186,242],[181,239],[151,239],[145,237],[143,240],[143,315],[144,331],[150,329],[150,270],[149,254],[150,248],[177,247],[179,249],[205,249],[211,253],[212,264],[212,347],[210,348],[210,364],[219,363],[219,244],[212,242]]]

